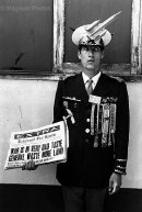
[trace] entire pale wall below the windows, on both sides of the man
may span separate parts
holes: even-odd
[[[123,188],[142,188],[142,83],[127,83],[130,98],[130,144],[128,175]],[[39,127],[52,122],[57,81],[0,80],[0,183],[58,185],[56,165],[35,171],[3,170],[12,131]]]

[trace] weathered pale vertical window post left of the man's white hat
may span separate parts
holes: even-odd
[[[54,72],[62,69],[64,55],[64,0],[54,0]]]

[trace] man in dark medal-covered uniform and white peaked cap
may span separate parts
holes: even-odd
[[[66,212],[102,212],[107,191],[116,193],[126,175],[128,92],[100,70],[111,35],[98,27],[94,22],[73,32],[82,72],[60,80],[55,98],[54,122],[67,119],[69,127],[68,159],[57,165]]]

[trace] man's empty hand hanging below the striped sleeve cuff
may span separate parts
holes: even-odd
[[[109,179],[109,194],[116,193],[121,187],[121,175],[113,172]]]

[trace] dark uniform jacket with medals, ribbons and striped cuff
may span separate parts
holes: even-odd
[[[102,74],[92,94],[100,102],[88,102],[82,74],[58,83],[54,122],[69,115],[68,159],[57,165],[57,179],[64,186],[104,188],[114,171],[126,174],[129,140],[126,83]]]

